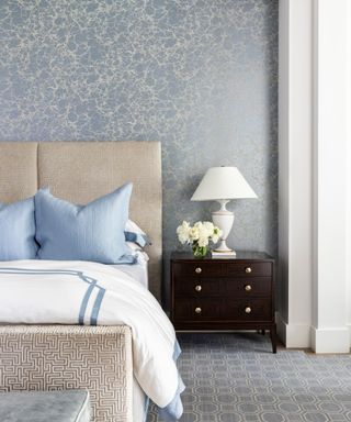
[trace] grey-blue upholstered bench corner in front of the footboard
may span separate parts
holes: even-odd
[[[0,392],[1,422],[90,422],[89,392]]]

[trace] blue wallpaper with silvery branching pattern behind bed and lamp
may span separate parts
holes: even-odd
[[[229,244],[275,254],[278,0],[2,0],[0,140],[160,140],[163,246],[211,166],[236,165]]]

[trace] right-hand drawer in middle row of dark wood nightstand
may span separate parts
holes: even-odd
[[[258,278],[226,278],[224,282],[224,291],[230,298],[254,298],[271,297],[272,282],[269,277]]]

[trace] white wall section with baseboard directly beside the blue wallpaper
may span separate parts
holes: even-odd
[[[278,331],[308,347],[312,325],[313,0],[280,1]]]

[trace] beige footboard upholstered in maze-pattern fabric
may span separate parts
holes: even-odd
[[[94,422],[133,421],[131,329],[0,326],[0,391],[88,389]]]

